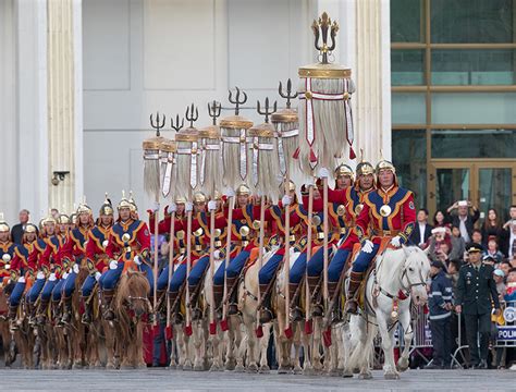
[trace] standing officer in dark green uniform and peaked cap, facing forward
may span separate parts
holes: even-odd
[[[483,247],[468,244],[466,250],[469,264],[460,268],[457,281],[456,311],[464,311],[466,335],[471,356],[471,366],[477,369],[488,368],[488,344],[491,327],[491,301],[493,313],[500,314],[499,295],[493,280],[493,267],[481,261]],[[480,351],[477,335],[480,333]]]

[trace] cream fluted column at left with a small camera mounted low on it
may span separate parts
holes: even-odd
[[[49,188],[49,205],[70,213],[82,191],[79,0],[48,0],[49,177],[69,172]],[[78,28],[77,28],[78,24]],[[78,35],[78,37],[77,37]],[[78,84],[78,86],[77,86]],[[78,101],[77,101],[78,100]],[[78,139],[77,139],[78,137]]]

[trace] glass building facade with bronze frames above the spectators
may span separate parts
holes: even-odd
[[[431,212],[516,204],[516,0],[391,0],[393,162]]]

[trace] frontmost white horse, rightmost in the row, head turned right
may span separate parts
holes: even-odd
[[[386,379],[398,379],[400,371],[408,368],[408,355],[413,340],[410,324],[410,301],[415,305],[427,302],[427,280],[430,262],[427,253],[417,246],[403,246],[400,249],[388,248],[377,258],[365,289],[365,314],[352,316],[351,333],[356,346],[346,364],[346,373],[360,370],[359,378],[369,379],[370,358],[373,339],[380,330],[385,357],[383,365]],[[404,299],[402,299],[404,298]],[[397,304],[397,309],[395,306]],[[396,364],[394,363],[394,331],[401,323],[405,346]]]

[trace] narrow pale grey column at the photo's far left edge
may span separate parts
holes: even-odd
[[[16,146],[16,20],[12,0],[0,2],[0,146],[2,166],[0,171],[2,195],[0,212],[4,213],[8,222],[14,222],[17,212],[17,164]]]

